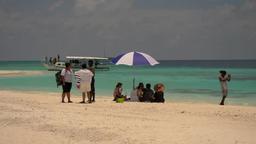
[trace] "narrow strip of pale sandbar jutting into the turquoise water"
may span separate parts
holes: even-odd
[[[42,71],[29,71],[29,70],[0,70],[0,76],[26,76],[26,75],[39,75],[43,74]]]

